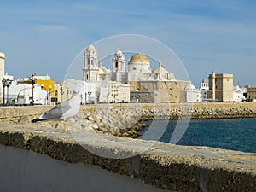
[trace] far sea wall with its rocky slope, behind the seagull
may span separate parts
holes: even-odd
[[[50,106],[1,108],[0,122],[28,125]],[[154,119],[227,119],[256,117],[256,102],[206,102],[166,104],[99,104],[81,106],[69,125],[119,137],[137,138],[145,124]],[[48,121],[32,126],[63,128],[62,122]]]

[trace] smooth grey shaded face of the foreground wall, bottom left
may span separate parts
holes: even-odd
[[[0,191],[166,192],[97,166],[0,145]]]

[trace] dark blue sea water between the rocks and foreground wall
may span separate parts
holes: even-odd
[[[148,125],[151,123],[147,122]],[[164,121],[156,123],[159,127],[165,124]],[[177,120],[170,120],[166,125],[166,131],[158,140],[170,143],[173,131],[179,129],[179,124],[177,124]],[[145,131],[147,129],[143,130],[141,134]],[[177,144],[256,153],[256,118],[191,119],[183,137]]]

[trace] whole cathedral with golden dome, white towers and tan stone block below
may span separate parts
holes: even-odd
[[[159,61],[158,67],[151,69],[146,55],[132,55],[125,67],[125,55],[120,49],[113,54],[110,71],[98,66],[98,52],[93,44],[84,51],[84,82],[119,82],[129,84],[131,102],[185,102],[183,92],[191,82],[177,80]]]

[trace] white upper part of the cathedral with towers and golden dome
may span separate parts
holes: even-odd
[[[90,44],[84,51],[84,81],[117,81],[122,84],[137,81],[175,80],[172,73],[162,67],[161,63],[154,70],[146,55],[137,53],[131,56],[128,68],[125,69],[125,55],[118,49],[112,58],[113,72],[106,67],[98,67],[97,50]]]

